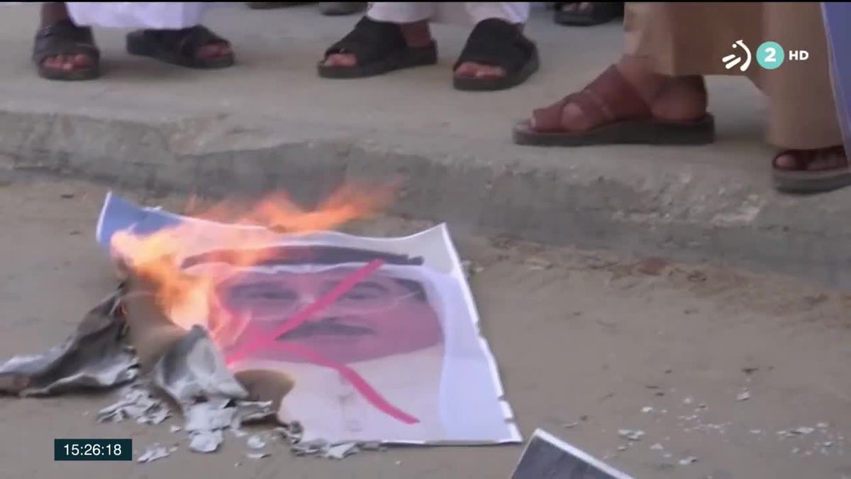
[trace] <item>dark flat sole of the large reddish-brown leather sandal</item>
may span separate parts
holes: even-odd
[[[694,122],[630,120],[581,133],[542,133],[527,122],[512,131],[518,145],[536,147],[590,147],[595,145],[706,145],[715,141],[715,118],[710,113]]]

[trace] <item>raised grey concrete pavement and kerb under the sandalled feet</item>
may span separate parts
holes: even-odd
[[[511,124],[580,88],[617,57],[620,26],[553,25],[529,35],[542,70],[511,91],[451,88],[466,30],[435,29],[438,66],[381,78],[317,78],[323,50],[356,21],[315,6],[215,9],[238,66],[195,72],[123,52],[95,35],[106,77],[37,78],[37,7],[0,16],[0,164],[222,196],[285,188],[316,199],[351,178],[402,175],[393,213],[553,244],[694,261],[713,259],[851,284],[851,189],[774,193],[761,142],[763,101],[742,78],[712,78],[718,141],[707,147],[542,149],[511,143]],[[720,61],[720,60],[719,60]]]

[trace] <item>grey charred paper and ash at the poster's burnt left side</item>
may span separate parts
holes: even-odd
[[[190,449],[217,450],[224,430],[274,415],[271,401],[248,401],[248,391],[227,369],[224,359],[201,328],[192,328],[168,349],[150,374],[140,376],[129,335],[123,300],[126,284],[92,309],[70,338],[42,355],[14,356],[0,366],[0,391],[56,395],[69,390],[127,386],[120,398],[97,414],[99,422],[134,420],[161,424],[170,415],[168,402],[180,407]],[[162,397],[161,394],[168,399]],[[155,448],[140,462],[162,459],[170,452]]]

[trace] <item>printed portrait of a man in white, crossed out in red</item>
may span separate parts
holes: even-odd
[[[294,380],[279,416],[341,440],[375,440],[378,430],[410,441],[442,436],[443,326],[421,259],[323,246],[282,247],[264,257],[237,268],[226,251],[214,251],[185,263],[187,272],[212,268],[223,279],[215,290],[220,308],[211,309],[223,317],[210,327],[226,338],[220,342],[226,357],[322,304],[232,366],[279,370]],[[380,268],[327,301],[375,260]]]

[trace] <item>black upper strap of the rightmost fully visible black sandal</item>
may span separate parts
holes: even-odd
[[[511,74],[518,72],[532,58],[537,46],[515,25],[489,18],[476,24],[461,50],[453,70],[465,62],[500,66]]]

